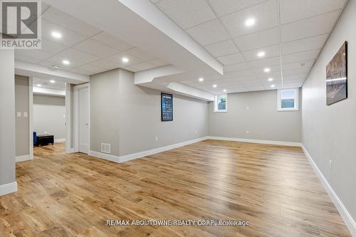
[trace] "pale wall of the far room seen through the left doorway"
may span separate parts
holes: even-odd
[[[51,134],[55,139],[66,138],[66,98],[33,95],[33,131]]]

